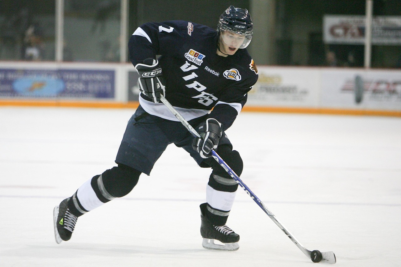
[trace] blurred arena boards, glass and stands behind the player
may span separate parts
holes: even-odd
[[[401,8],[393,0],[4,0],[0,104],[135,107],[126,43],[136,27],[184,19],[215,28],[229,4],[249,9],[255,25],[249,52],[259,81],[244,111],[400,116]]]

